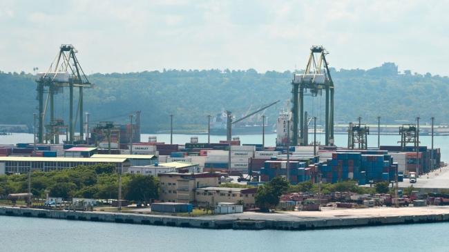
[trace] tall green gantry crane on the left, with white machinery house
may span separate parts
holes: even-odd
[[[48,134],[51,143],[57,142],[57,128],[55,122],[54,95],[62,93],[63,88],[69,88],[69,139],[68,142],[75,141],[75,124],[79,118],[79,139],[84,136],[83,121],[83,89],[93,88],[90,84],[79,61],[75,55],[78,51],[73,45],[63,44],[59,47],[57,57],[50,65],[46,72],[39,72],[36,77],[37,82],[37,99],[39,101],[39,125],[38,125],[38,142],[44,142],[44,122],[48,100],[50,100],[50,124],[47,127],[50,130]],[[73,88],[79,88],[79,100],[75,122],[73,122]],[[44,104],[44,93],[48,93]],[[61,124],[61,122],[59,122]],[[64,124],[64,123],[63,123]]]

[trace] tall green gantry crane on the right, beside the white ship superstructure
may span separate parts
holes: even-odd
[[[307,145],[305,141],[307,131],[304,123],[304,94],[307,90],[314,97],[321,95],[322,90],[325,90],[325,144],[334,144],[334,81],[325,58],[327,54],[323,46],[312,46],[304,73],[295,74],[292,80],[293,145]]]

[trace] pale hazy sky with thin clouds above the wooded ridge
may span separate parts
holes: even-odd
[[[129,2],[129,3],[128,3]],[[449,75],[449,1],[0,0],[0,70],[48,68],[72,43],[86,73],[334,68]]]

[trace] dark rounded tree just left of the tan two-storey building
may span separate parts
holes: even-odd
[[[126,184],[125,198],[127,200],[148,201],[158,197],[158,182],[153,176],[132,175],[131,180]]]

